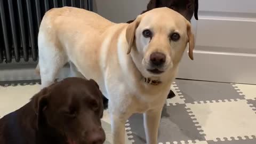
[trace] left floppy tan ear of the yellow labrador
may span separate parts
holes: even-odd
[[[132,50],[132,46],[134,44],[134,37],[137,27],[140,24],[141,15],[139,15],[132,23],[129,24],[129,26],[126,28],[126,41],[128,43],[128,51],[127,54],[129,54]]]

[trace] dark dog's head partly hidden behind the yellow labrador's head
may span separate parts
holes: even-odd
[[[169,7],[182,14],[188,21],[191,20],[194,13],[195,19],[198,20],[198,0],[150,0],[146,11],[157,7]]]

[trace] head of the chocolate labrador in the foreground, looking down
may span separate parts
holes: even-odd
[[[39,132],[46,131],[69,144],[105,141],[100,121],[102,93],[92,79],[66,78],[41,90],[32,102]]]

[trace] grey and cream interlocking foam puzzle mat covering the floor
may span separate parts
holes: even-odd
[[[15,103],[0,105],[0,117],[6,110],[20,107],[19,101],[25,103],[27,100],[22,100],[20,93],[29,99],[32,92],[39,90],[38,84],[39,80],[0,82],[0,101],[19,98]],[[256,143],[256,85],[175,79],[172,90],[177,97],[166,100],[158,144]],[[108,116],[105,119],[108,120],[102,124],[111,138],[110,120]],[[125,127],[126,143],[146,143],[142,114],[133,115]]]

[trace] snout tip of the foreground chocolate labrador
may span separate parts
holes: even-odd
[[[95,131],[95,132],[92,132],[90,135],[89,135],[89,138],[88,138],[88,143],[89,144],[102,144],[106,139],[106,135],[105,133],[103,132],[103,130],[101,131]]]

